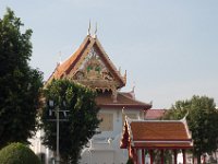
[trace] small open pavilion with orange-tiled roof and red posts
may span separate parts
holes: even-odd
[[[186,164],[185,151],[193,148],[193,140],[185,117],[181,120],[136,120],[125,116],[121,149],[128,149],[134,164],[145,164],[145,152],[149,152],[154,163],[154,150],[160,151],[164,164],[165,150],[173,152],[177,164],[178,152],[182,150],[183,164]]]

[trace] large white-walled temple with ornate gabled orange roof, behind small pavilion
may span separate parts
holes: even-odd
[[[69,79],[98,93],[96,103],[100,107],[98,117],[102,122],[97,130],[100,133],[93,137],[88,148],[84,148],[81,163],[126,163],[128,151],[119,148],[125,115],[144,119],[144,114],[152,104],[135,99],[134,90],[120,92],[125,86],[126,72],[122,75],[116,68],[97,36],[88,34],[69,59],[58,63],[47,83],[52,79]]]

